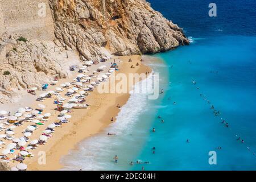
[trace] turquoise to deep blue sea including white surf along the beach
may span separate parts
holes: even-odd
[[[63,158],[64,169],[255,170],[255,2],[216,0],[217,18],[208,16],[209,1],[150,2],[184,28],[191,45],[147,57],[164,94],[158,100],[132,94],[117,122]],[[217,165],[208,163],[209,151],[217,152]],[[137,160],[150,163],[129,164]]]

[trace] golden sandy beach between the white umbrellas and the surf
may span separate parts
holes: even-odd
[[[140,61],[141,56],[138,55],[122,57],[115,56],[114,59],[119,66],[118,73],[125,73],[127,75],[128,73],[146,73],[151,71],[149,67],[142,64],[143,62]],[[128,61],[129,59],[133,61],[130,63]],[[108,60],[104,64],[108,67],[112,61],[113,60]],[[136,66],[136,63],[139,63],[139,65]],[[131,65],[134,65],[135,68],[130,68]],[[98,67],[99,65],[93,65],[90,68],[90,71],[94,71]],[[72,79],[73,77],[60,80],[55,86],[49,86],[47,90],[54,90],[54,88],[59,86],[61,83],[72,81]],[[41,92],[36,93],[40,94]],[[54,133],[51,134],[53,137],[49,138],[46,144],[39,145],[35,150],[31,150],[34,157],[26,158],[23,163],[28,165],[28,170],[61,169],[61,157],[67,155],[70,150],[76,150],[76,145],[81,140],[100,133],[102,129],[109,126],[109,124],[112,123],[112,117],[114,117],[115,121],[115,116],[119,112],[117,105],[125,105],[129,96],[129,93],[102,94],[98,93],[97,89],[95,89],[88,97],[86,97],[86,104],[89,104],[90,107],[88,109],[72,109],[72,112],[70,113],[72,115],[72,118],[69,120],[70,122],[65,123],[60,127],[56,127]],[[32,108],[35,108],[38,104],[45,105],[46,109],[44,109],[44,113],[51,113],[51,116],[48,118],[46,125],[40,126],[34,131],[33,135],[29,138],[30,141],[38,139],[49,124],[57,122],[57,115],[59,114],[59,111],[55,110],[56,105],[53,104],[54,98],[56,97],[48,98],[43,102],[33,102],[31,105]],[[22,137],[22,131],[26,129],[28,125],[31,125],[31,123],[25,122],[22,126],[16,127],[14,129],[15,138]],[[2,133],[3,131],[1,131],[1,134]],[[42,159],[42,151],[46,154],[46,164],[38,163],[38,161],[40,162]],[[17,162],[12,161],[9,163],[11,167],[16,164]]]

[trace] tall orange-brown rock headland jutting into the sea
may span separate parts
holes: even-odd
[[[82,59],[167,51],[189,44],[181,28],[143,0],[49,0],[59,44]]]

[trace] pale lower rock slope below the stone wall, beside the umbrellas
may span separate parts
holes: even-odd
[[[68,75],[66,54],[53,42],[28,40],[25,43],[16,41],[17,38],[10,36],[5,39],[10,50],[0,62],[0,103],[10,101],[12,96],[26,89],[35,86],[40,89],[55,76],[65,78]]]

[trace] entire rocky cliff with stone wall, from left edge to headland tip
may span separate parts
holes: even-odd
[[[43,19],[36,16],[34,2],[10,0],[11,13],[6,13],[5,1],[0,1],[5,6],[0,9],[0,23],[5,23],[5,33],[0,31],[0,103],[32,86],[40,88],[54,76],[67,77],[67,68],[78,64],[79,56],[98,61],[106,49],[113,55],[133,55],[189,44],[181,28],[144,0],[44,0]],[[31,14],[28,2],[35,9]],[[28,40],[18,41],[20,35]]]

